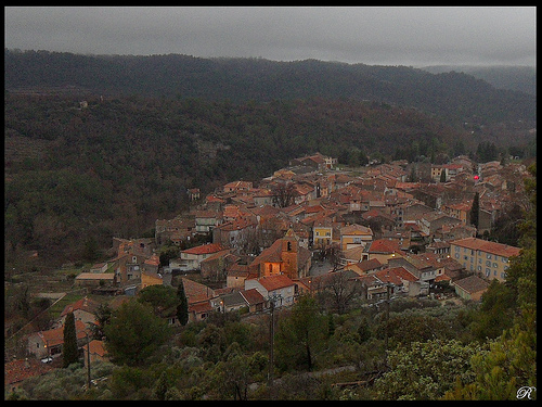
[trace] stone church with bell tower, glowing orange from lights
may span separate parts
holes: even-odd
[[[297,236],[289,229],[284,238],[264,249],[248,269],[258,277],[284,274],[299,279],[308,275],[310,266],[311,252],[299,245]]]

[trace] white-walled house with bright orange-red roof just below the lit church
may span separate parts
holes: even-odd
[[[274,301],[276,307],[293,305],[296,298],[296,283],[286,275],[263,276],[245,280],[245,290],[256,289],[267,301]]]

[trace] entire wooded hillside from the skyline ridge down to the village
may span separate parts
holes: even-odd
[[[8,262],[37,250],[59,264],[113,236],[152,236],[157,218],[188,207],[186,189],[257,182],[317,151],[353,165],[366,155],[446,160],[482,142],[533,154],[534,98],[465,74],[4,54]]]

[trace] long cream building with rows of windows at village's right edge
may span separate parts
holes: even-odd
[[[465,238],[450,242],[452,258],[469,271],[499,281],[506,280],[509,259],[518,256],[519,253],[519,247],[477,238]]]

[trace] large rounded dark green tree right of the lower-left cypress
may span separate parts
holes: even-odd
[[[150,305],[133,300],[113,313],[104,331],[112,360],[128,366],[142,365],[171,336],[166,320],[154,315]]]

